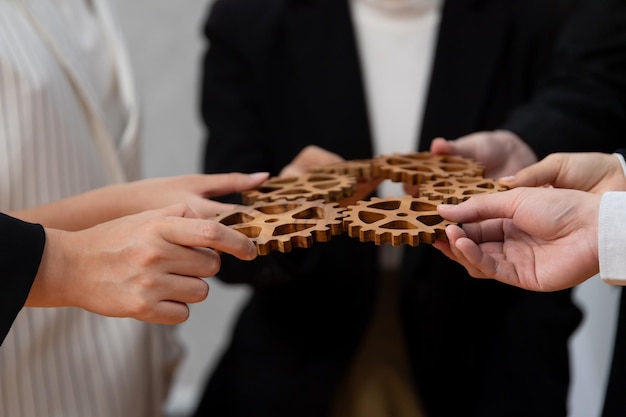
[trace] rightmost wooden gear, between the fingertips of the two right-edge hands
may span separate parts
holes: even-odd
[[[461,203],[473,195],[505,191],[507,187],[482,177],[448,177],[426,181],[419,186],[420,196],[446,204]]]

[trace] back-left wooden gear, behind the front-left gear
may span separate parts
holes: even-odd
[[[280,199],[324,200],[333,202],[356,192],[356,178],[329,173],[308,173],[299,177],[272,177],[257,189],[242,193],[243,203]]]

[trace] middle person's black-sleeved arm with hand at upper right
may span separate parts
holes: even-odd
[[[553,152],[612,152],[626,125],[626,4],[586,1],[557,42],[552,68],[533,98],[500,130],[433,141],[486,165],[486,176],[512,175]]]

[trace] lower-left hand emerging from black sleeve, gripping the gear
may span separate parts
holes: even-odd
[[[146,211],[67,232],[46,229],[46,245],[27,306],[76,306],[112,317],[176,324],[186,303],[204,300],[201,277],[220,268],[216,250],[256,257],[254,244],[184,205]],[[212,248],[212,249],[209,249]]]

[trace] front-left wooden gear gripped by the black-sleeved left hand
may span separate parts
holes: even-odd
[[[222,224],[248,236],[259,255],[309,248],[343,233],[343,208],[324,200],[259,201],[216,216]]]

